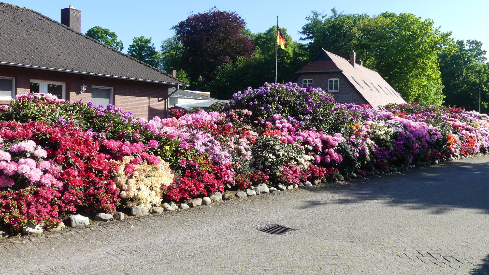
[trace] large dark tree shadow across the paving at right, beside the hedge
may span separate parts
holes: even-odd
[[[339,195],[340,198],[334,199],[333,204],[383,199],[387,204],[430,209],[434,214],[442,214],[454,207],[489,213],[489,158],[471,160],[374,176],[362,182],[356,181],[353,186],[318,191]],[[311,202],[305,203],[305,207],[314,206]]]

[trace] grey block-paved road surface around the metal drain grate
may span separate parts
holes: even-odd
[[[489,157],[415,170],[7,239],[0,274],[489,274]]]

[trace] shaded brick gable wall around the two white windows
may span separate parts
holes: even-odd
[[[334,100],[338,103],[355,103],[364,104],[367,103],[362,96],[356,92],[356,90],[350,85],[340,72],[331,73],[303,73],[300,74],[295,83],[302,87],[303,79],[312,79],[312,88],[321,88],[323,91],[328,92],[328,84],[330,78],[338,78],[338,92],[332,92]]]

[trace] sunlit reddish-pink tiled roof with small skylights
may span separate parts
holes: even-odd
[[[323,49],[324,50],[324,49]],[[333,60],[331,63],[337,66],[344,76],[350,81],[353,87],[372,105],[378,106],[389,103],[406,103],[400,94],[385,81],[378,72],[355,64],[352,66],[349,60],[326,51],[326,54]],[[316,61],[325,62],[325,61]],[[316,63],[312,62],[312,63]],[[311,64],[311,63],[310,63]],[[358,81],[358,83],[356,83]],[[366,83],[365,83],[366,82]]]

